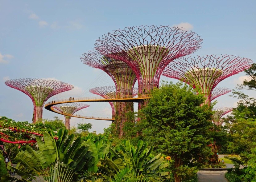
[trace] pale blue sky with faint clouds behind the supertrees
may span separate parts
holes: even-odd
[[[127,26],[168,25],[196,32],[202,48],[193,55],[229,54],[256,62],[256,1],[3,1],[0,0],[0,116],[32,122],[33,104],[24,93],[4,84],[17,78],[47,78],[74,85],[56,96],[93,97],[89,89],[114,85],[101,70],[84,65],[80,57],[103,34]],[[235,89],[245,79],[239,73],[219,83]],[[164,81],[176,81],[161,77]],[[255,92],[246,92],[256,97]],[[230,94],[218,97],[217,107],[235,107]],[[76,114],[111,117],[110,105],[87,103]],[[137,105],[135,104],[136,108]],[[64,116],[43,109],[44,119]],[[102,133],[111,121],[71,118],[71,126],[92,123]]]

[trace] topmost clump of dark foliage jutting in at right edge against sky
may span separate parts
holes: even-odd
[[[237,85],[237,89],[256,90],[256,63],[253,63],[249,69],[245,69],[246,75],[249,75],[250,80],[244,80],[243,84]]]

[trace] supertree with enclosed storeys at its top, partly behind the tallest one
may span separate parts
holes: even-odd
[[[116,96],[119,98],[133,97],[134,84],[137,78],[134,71],[124,61],[113,59],[108,55],[103,56],[95,50],[84,53],[81,61],[107,73],[115,83]],[[123,125],[122,123],[129,122],[127,113],[134,112],[133,103],[117,102],[115,105],[115,124]]]

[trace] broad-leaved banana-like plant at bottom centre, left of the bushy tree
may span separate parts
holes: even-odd
[[[101,158],[97,166],[105,171],[108,176],[114,176],[123,168],[130,168],[132,176],[165,176],[169,177],[170,172],[162,169],[168,166],[167,161],[159,153],[152,156],[153,147],[147,148],[147,143],[138,141],[136,147],[130,144],[129,140],[123,140],[115,149],[110,148],[109,157]]]

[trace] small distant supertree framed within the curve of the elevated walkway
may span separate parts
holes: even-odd
[[[87,108],[90,105],[88,104],[83,104],[83,103],[78,103],[78,102],[73,102],[73,103],[65,103],[65,104],[57,104],[52,106],[54,109],[57,109],[61,113],[68,114],[68,115],[73,115],[75,112]],[[65,117],[65,126],[66,129],[70,129],[70,119],[71,116],[64,115]]]

